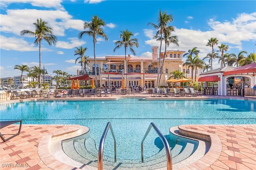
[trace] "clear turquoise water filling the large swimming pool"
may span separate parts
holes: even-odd
[[[181,124],[255,124],[256,101],[251,100],[140,100],[32,101],[0,105],[0,119],[22,119],[24,124],[79,124],[90,128],[96,147],[110,121],[116,136],[118,159],[140,159],[140,144],[153,122],[163,135]],[[154,130],[144,141],[144,156],[162,146]],[[108,132],[104,155],[113,156]]]

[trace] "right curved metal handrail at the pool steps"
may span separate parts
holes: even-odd
[[[158,136],[160,137],[162,143],[164,144],[164,149],[166,152],[166,160],[167,160],[167,170],[172,170],[172,154],[171,154],[171,150],[168,144],[168,141],[166,140],[166,138],[164,137],[164,135],[162,135],[162,133],[159,131],[159,129],[156,127],[156,125],[152,122],[150,123],[148,130],[146,131],[146,134],[144,135],[144,138],[141,141],[141,162],[143,162],[143,142],[146,139],[146,137],[148,136],[148,133],[150,132],[151,128],[154,128],[154,130],[156,131],[156,133],[158,134]]]

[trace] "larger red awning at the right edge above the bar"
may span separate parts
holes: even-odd
[[[233,70],[225,71],[223,73],[223,75],[226,76],[226,75],[230,75],[230,74],[242,74],[242,73],[255,74],[256,73],[256,63],[248,64],[245,66],[235,68]]]

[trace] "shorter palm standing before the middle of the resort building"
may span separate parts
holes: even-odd
[[[138,44],[138,39],[134,38],[131,39],[131,37],[133,36],[133,33],[131,31],[128,31],[128,29],[121,31],[120,34],[120,41],[116,41],[115,45],[117,45],[113,52],[116,52],[116,49],[120,49],[122,46],[124,46],[124,56],[125,56],[125,63],[126,63],[126,73],[128,73],[128,68],[127,68],[127,58],[126,58],[126,50],[127,48],[130,49],[130,51],[132,52],[133,55],[136,55],[134,49],[132,48],[133,46],[135,47],[139,47]],[[127,82],[127,86],[128,87],[128,79],[127,79],[127,74],[126,74],[126,82]]]

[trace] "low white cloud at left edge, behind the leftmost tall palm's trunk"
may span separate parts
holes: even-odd
[[[15,50],[15,51],[39,51],[39,47],[35,46],[34,43],[29,44],[23,39],[15,37],[4,37],[0,35],[1,39],[1,49],[4,50]],[[51,51],[50,49],[41,47],[41,51]]]

